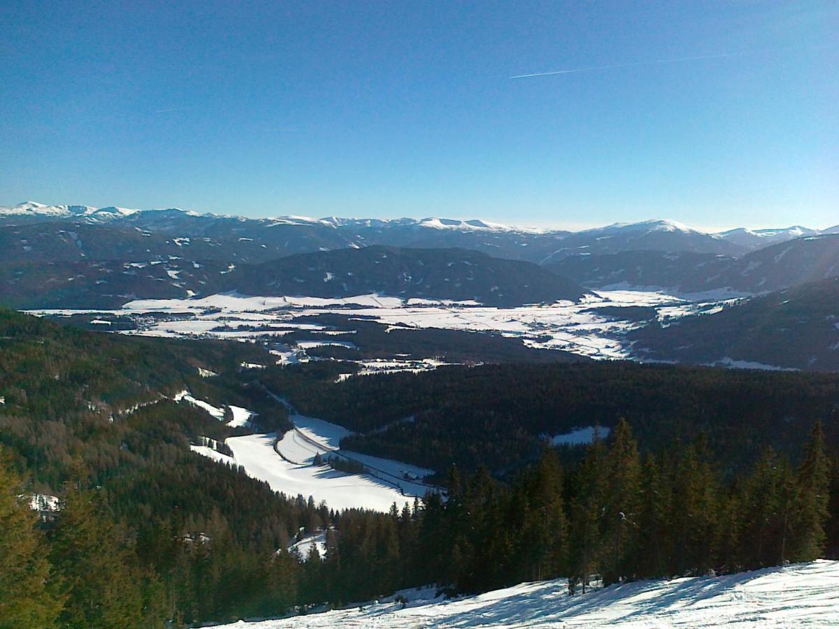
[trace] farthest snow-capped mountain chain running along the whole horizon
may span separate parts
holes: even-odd
[[[177,208],[130,210],[88,205],[44,205],[34,201],[13,207],[0,207],[2,226],[44,222],[138,228],[180,239],[249,239],[258,247],[264,246],[282,255],[371,245],[460,247],[493,257],[534,263],[555,263],[575,255],[607,255],[638,250],[738,257],[795,237],[820,233],[794,226],[762,230],[739,228],[711,234],[665,220],[615,223],[597,229],[569,232],[440,217],[380,220],[280,216],[252,219],[235,215],[198,214]],[[832,229],[839,231],[839,226]]]

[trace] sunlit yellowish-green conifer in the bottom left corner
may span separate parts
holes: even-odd
[[[38,517],[0,450],[0,627],[51,626],[62,605]]]

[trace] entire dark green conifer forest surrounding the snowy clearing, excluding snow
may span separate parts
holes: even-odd
[[[352,367],[244,361],[266,356],[0,310],[0,626],[187,626],[430,583],[567,576],[581,590],[839,555],[836,377],[519,364],[336,384]],[[336,513],[278,494],[190,452],[233,430],[169,400],[185,387],[257,410],[266,432],[289,426],[270,391],[340,411],[370,431],[350,438],[359,450],[419,461],[438,447],[446,496]],[[610,434],[585,447],[539,439],[598,424]],[[376,445],[388,432],[399,455]],[[33,492],[60,511],[31,511]],[[326,527],[325,557],[284,550]]]

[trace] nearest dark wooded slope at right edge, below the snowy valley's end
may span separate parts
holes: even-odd
[[[839,278],[630,333],[641,360],[839,371]]]

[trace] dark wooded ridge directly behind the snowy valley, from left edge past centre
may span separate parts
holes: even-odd
[[[187,252],[185,252],[186,255]],[[171,257],[0,264],[0,304],[18,309],[118,308],[133,299],[237,292],[261,296],[386,294],[516,306],[580,299],[579,284],[538,265],[464,249],[364,247],[267,263]]]

